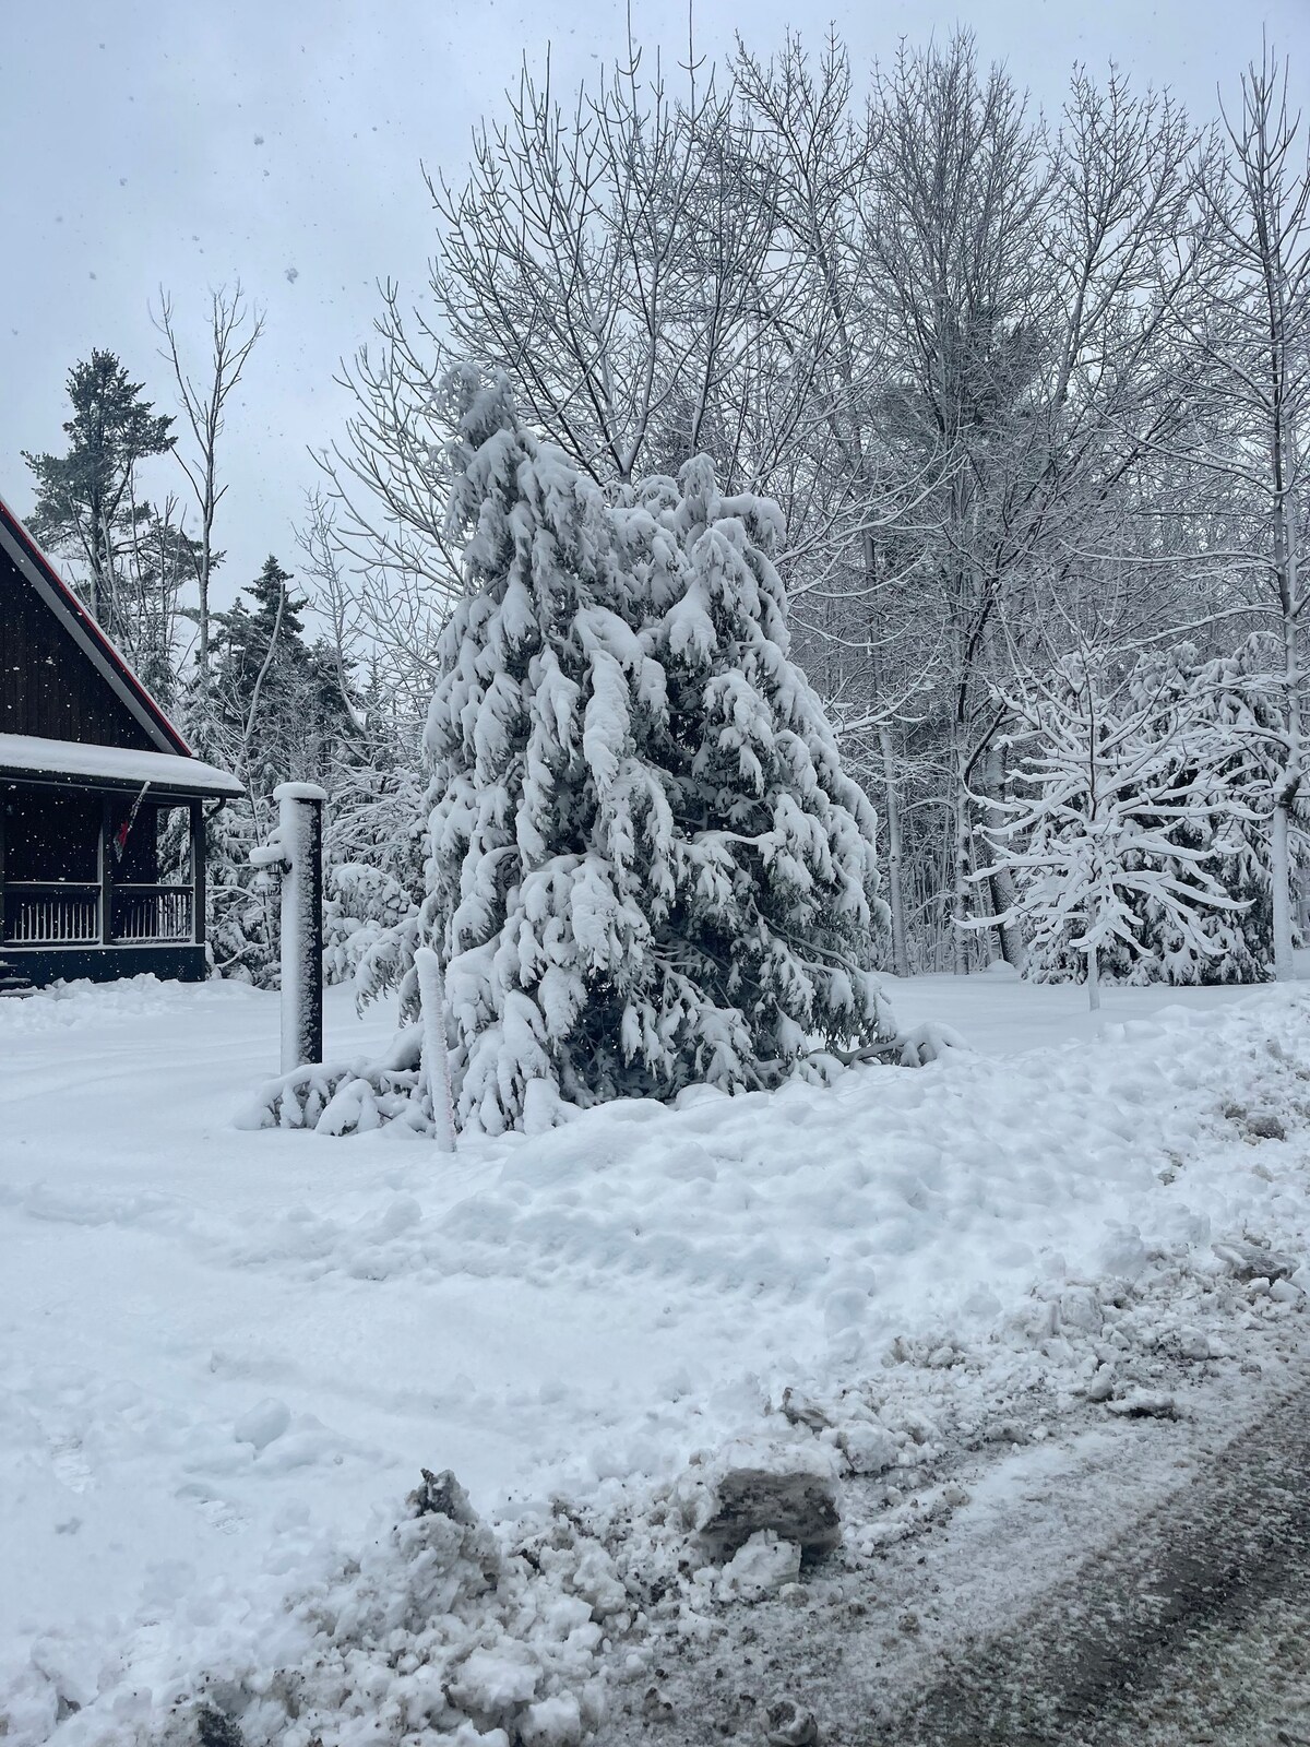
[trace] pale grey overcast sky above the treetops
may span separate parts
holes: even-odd
[[[632,19],[646,52],[685,52],[685,0],[632,0]],[[695,0],[707,54],[734,30],[765,54],[789,26],[817,42],[830,21],[858,68],[962,23],[1048,110],[1076,61],[1113,59],[1207,117],[1265,23],[1310,91],[1310,0]],[[369,337],[379,278],[423,293],[419,161],[459,175],[524,54],[550,45],[573,86],[624,40],[624,0],[7,0],[0,496],[30,510],[19,451],[61,449],[65,376],[93,346],[171,411],[159,287],[199,363],[208,288],[239,278],[267,330],[225,438],[227,590],[271,550],[293,566],[307,449],[346,416],[337,363]]]

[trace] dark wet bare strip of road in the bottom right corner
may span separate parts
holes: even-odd
[[[1130,1523],[894,1717],[852,1733],[851,1747],[1163,1747],[1287,1735],[1293,1712],[1310,1714],[1310,1667],[1300,1695],[1277,1693],[1263,1651],[1279,1604],[1310,1593],[1308,1412],[1303,1382],[1219,1450],[1200,1485]],[[1245,1679],[1207,1682],[1221,1649],[1235,1649],[1228,1663]]]

